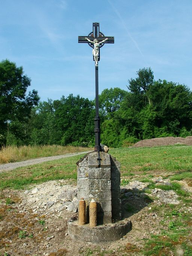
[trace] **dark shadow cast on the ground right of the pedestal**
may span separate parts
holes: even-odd
[[[121,211],[122,218],[129,218],[133,214],[141,211],[145,206],[153,202],[145,190],[137,188],[126,189],[121,188]]]

